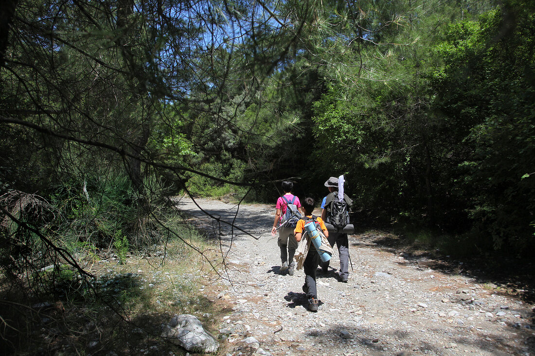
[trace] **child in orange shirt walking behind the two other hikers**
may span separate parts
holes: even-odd
[[[329,233],[327,231],[327,228],[325,227],[325,223],[323,222],[322,218],[316,218],[316,216],[312,215],[312,211],[314,211],[314,207],[316,205],[316,202],[314,198],[305,198],[303,200],[303,211],[306,218],[316,220],[319,223],[319,228],[322,229],[323,233],[325,234],[325,237],[328,238]],[[305,225],[305,220],[300,219],[297,221],[297,225],[295,226],[295,240],[297,242],[300,242],[303,238],[303,229]],[[316,250],[316,247],[314,244],[309,244],[309,249],[307,252],[307,257],[305,257],[305,260],[303,262],[303,270],[304,270],[304,285],[303,285],[303,292],[307,293],[308,298],[308,308],[311,312],[317,312],[318,311],[318,294],[317,294],[317,284],[316,284],[316,268],[318,268],[319,264],[319,254]]]

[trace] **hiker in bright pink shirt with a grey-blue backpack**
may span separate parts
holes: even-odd
[[[301,210],[301,202],[299,201],[299,198],[292,194],[293,188],[294,183],[288,181],[282,182],[282,190],[284,190],[284,195],[277,199],[277,204],[275,206],[277,211],[275,213],[275,220],[273,221],[273,228],[271,229],[272,236],[275,236],[281,220],[281,214],[282,216],[286,214],[288,204],[294,204],[298,210]],[[284,221],[281,223],[284,223]],[[294,253],[295,249],[297,249],[297,241],[295,241],[294,237],[294,228],[295,225],[292,226],[291,224],[286,224],[282,227],[279,227],[279,238],[277,240],[277,244],[280,247],[280,270],[284,271],[288,269],[288,274],[291,276],[294,274],[295,270]]]

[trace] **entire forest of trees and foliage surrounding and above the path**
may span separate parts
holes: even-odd
[[[17,259],[40,236],[68,237],[71,250],[139,246],[165,234],[162,196],[274,202],[293,177],[298,195],[319,198],[328,176],[345,174],[359,222],[527,251],[532,10],[483,0],[9,1],[0,249]],[[17,208],[27,194],[40,210]]]

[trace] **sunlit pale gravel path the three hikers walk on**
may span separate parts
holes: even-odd
[[[232,203],[196,202],[254,236],[220,224],[230,250],[221,272],[229,281],[212,297],[232,306],[219,326],[227,336],[220,354],[535,355],[533,305],[500,295],[491,283],[426,267],[428,258],[381,249],[372,242],[380,233],[349,236],[349,282],[338,282],[332,268],[318,272],[320,307],[311,313],[303,270],[279,271],[274,206],[243,204],[236,214]],[[177,200],[177,207],[217,234],[217,220],[190,200]],[[339,267],[337,251],[331,267]]]

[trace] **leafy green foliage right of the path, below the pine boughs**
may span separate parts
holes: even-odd
[[[366,57],[370,48],[356,55],[373,64],[379,52],[384,76],[361,75],[353,88],[330,81],[314,103],[315,151],[329,157],[317,167],[347,174],[361,218],[462,234],[460,248],[527,251],[533,15],[519,3],[461,5],[432,16],[418,7],[418,21],[388,33],[388,43],[412,41],[407,47],[363,44],[376,58]]]

